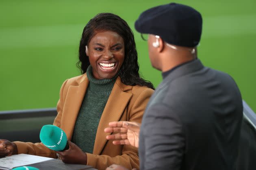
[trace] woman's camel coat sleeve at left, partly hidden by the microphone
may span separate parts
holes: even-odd
[[[61,116],[62,116],[62,110],[63,110],[63,89],[65,87],[67,80],[63,83],[61,86],[60,91],[60,99],[57,104],[57,116],[54,119],[53,125],[60,126],[61,122]],[[41,142],[40,143],[32,143],[32,142],[20,142],[15,141],[14,142],[17,145],[18,154],[25,153],[30,155],[38,155],[38,156],[44,156],[44,157],[52,157],[56,158],[56,152],[49,149],[48,147],[44,146]]]

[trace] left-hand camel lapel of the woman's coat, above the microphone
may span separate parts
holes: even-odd
[[[69,86],[67,91],[61,119],[61,129],[66,133],[68,140],[72,139],[76,118],[89,85],[89,80],[86,74],[76,81],[77,85]]]

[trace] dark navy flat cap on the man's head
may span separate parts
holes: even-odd
[[[202,33],[202,16],[190,6],[171,3],[144,11],[135,22],[135,29],[160,36],[166,43],[195,47]]]

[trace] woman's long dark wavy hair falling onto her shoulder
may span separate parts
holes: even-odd
[[[132,30],[124,19],[112,13],[99,13],[86,24],[80,40],[79,61],[77,62],[81,73],[84,74],[90,65],[89,57],[85,53],[85,46],[89,44],[91,38],[99,31],[116,32],[124,40],[124,63],[119,70],[121,82],[126,85],[147,86],[154,89],[150,81],[145,81],[139,75],[138,55]]]

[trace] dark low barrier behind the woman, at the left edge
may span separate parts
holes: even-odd
[[[0,138],[10,141],[41,142],[41,127],[52,124],[56,108],[0,111]]]

